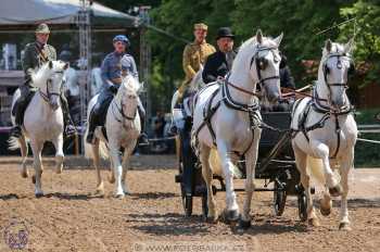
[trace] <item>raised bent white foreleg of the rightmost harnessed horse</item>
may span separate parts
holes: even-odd
[[[322,160],[325,177],[326,177],[326,186],[329,188],[329,192],[333,197],[338,197],[342,193],[342,189],[333,176],[333,172],[330,166],[329,160],[329,147],[321,142],[311,142],[312,148],[315,150],[315,153],[319,159]]]

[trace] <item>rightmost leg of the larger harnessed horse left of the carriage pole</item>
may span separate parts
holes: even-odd
[[[243,205],[243,213],[239,223],[239,228],[248,229],[251,227],[251,201],[252,194],[254,191],[254,179],[255,179],[255,166],[257,162],[258,153],[258,142],[259,142],[261,131],[258,129],[254,130],[255,141],[248,150],[245,154],[245,168],[246,168],[246,178],[245,178],[245,199]]]

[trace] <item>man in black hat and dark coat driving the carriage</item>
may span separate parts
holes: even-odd
[[[218,29],[216,43],[218,50],[211,54],[202,72],[203,83],[208,84],[216,81],[218,77],[225,77],[231,71],[232,62],[236,56],[233,49],[233,38],[229,27]]]

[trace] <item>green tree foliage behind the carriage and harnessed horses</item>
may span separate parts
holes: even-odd
[[[149,32],[154,67],[152,84],[153,104],[168,104],[175,87],[185,77],[181,59],[183,39],[193,39],[193,24],[208,25],[207,40],[215,45],[215,34],[220,26],[230,26],[237,35],[236,45],[252,37],[257,28],[266,36],[284,33],[281,50],[297,87],[309,84],[316,76],[306,74],[302,61],[319,61],[325,40],[330,38],[346,42],[354,35],[354,22],[335,25],[356,17],[355,62],[369,63],[366,78],[379,79],[380,75],[380,1],[379,0],[141,0],[100,2],[126,11],[130,5],[150,4],[152,25],[178,39]],[[324,32],[324,33],[320,33]],[[318,35],[318,33],[320,33]],[[159,88],[160,86],[164,88]],[[153,88],[152,88],[153,89]],[[161,93],[165,92],[165,93]],[[162,102],[160,99],[166,100]],[[161,108],[166,109],[167,108]]]

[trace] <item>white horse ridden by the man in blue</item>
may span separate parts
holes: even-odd
[[[105,119],[106,137],[103,135],[100,127],[94,131],[97,138],[94,144],[85,142],[85,153],[87,158],[93,159],[93,164],[97,169],[97,193],[104,193],[104,186],[102,177],[100,175],[100,156],[103,159],[111,158],[111,172],[112,176],[110,182],[115,181],[114,175],[116,175],[116,189],[115,196],[117,198],[124,198],[125,193],[128,193],[126,185],[127,166],[129,156],[132,153],[137,139],[141,131],[140,116],[137,113],[138,105],[138,92],[142,88],[137,79],[132,76],[126,76],[118,88],[118,91],[112,100]],[[98,96],[93,97],[88,105],[88,116],[98,101]],[[87,118],[89,122],[89,118]],[[88,128],[86,130],[84,139],[87,138]],[[106,147],[105,147],[106,144]],[[123,162],[121,148],[124,147]]]

